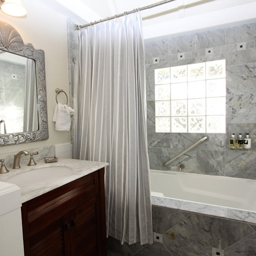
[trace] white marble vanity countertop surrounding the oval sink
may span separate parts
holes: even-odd
[[[65,166],[69,167],[72,170],[65,176],[55,179],[49,179],[47,182],[36,182],[33,184],[19,185],[21,190],[21,201],[22,203],[27,202],[35,197],[38,197],[42,194],[47,193],[57,187],[65,185],[71,181],[79,179],[83,176],[91,174],[100,168],[108,166],[108,163],[102,162],[93,162],[85,160],[76,160],[76,159],[58,159],[56,163],[45,163],[44,160],[37,162],[35,166],[21,165],[19,169],[9,168],[9,173],[0,174],[0,181],[7,182],[7,180],[20,173],[29,172],[33,169],[51,167],[51,166]]]

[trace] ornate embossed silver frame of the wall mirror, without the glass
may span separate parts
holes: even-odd
[[[38,115],[38,131],[0,134],[0,146],[47,140],[49,133],[44,51],[35,50],[32,44],[25,45],[17,30],[2,20],[0,20],[0,50],[35,61]]]

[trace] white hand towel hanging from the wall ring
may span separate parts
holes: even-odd
[[[74,113],[75,111],[70,108],[70,106],[58,103],[53,114],[53,121],[56,122],[55,130],[59,132],[69,132],[71,125],[70,115]]]

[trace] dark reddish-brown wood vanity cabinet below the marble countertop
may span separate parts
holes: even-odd
[[[25,255],[106,255],[104,168],[22,205]]]

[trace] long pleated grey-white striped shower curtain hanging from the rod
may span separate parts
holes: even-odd
[[[139,13],[79,32],[75,158],[109,162],[109,236],[152,244],[145,67]]]

